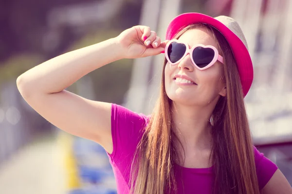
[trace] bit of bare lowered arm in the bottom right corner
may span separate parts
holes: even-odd
[[[283,173],[277,169],[273,177],[262,189],[263,194],[292,194],[292,188]]]

